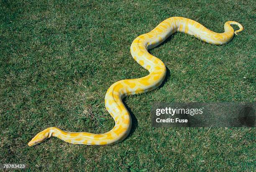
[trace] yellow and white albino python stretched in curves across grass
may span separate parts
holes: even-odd
[[[230,24],[238,25],[234,32]],[[149,33],[138,36],[131,44],[131,55],[143,68],[149,71],[148,76],[136,79],[125,79],[115,82],[105,96],[105,106],[115,120],[115,126],[109,132],[93,134],[87,132],[67,132],[57,127],[49,127],[36,134],[28,143],[34,146],[47,138],[58,137],[72,144],[109,145],[122,141],[131,130],[131,116],[122,99],[131,94],[145,93],[156,89],[164,81],[166,67],[164,63],[148,53],[148,49],[161,44],[166,38],[179,31],[194,35],[196,38],[210,44],[221,45],[228,43],[234,34],[243,30],[243,26],[234,21],[224,25],[224,33],[215,33],[194,20],[182,17],[172,17],[164,20]]]

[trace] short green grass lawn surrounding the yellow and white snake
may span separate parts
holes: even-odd
[[[1,0],[0,163],[26,163],[28,171],[255,171],[254,128],[152,128],[150,119],[153,102],[255,101],[255,8],[253,0]],[[112,129],[108,87],[148,74],[131,57],[132,41],[172,16],[219,33],[228,20],[245,29],[224,46],[176,33],[151,50],[169,74],[161,88],[124,99],[133,127],[123,142],[51,138],[28,147],[50,126]]]

